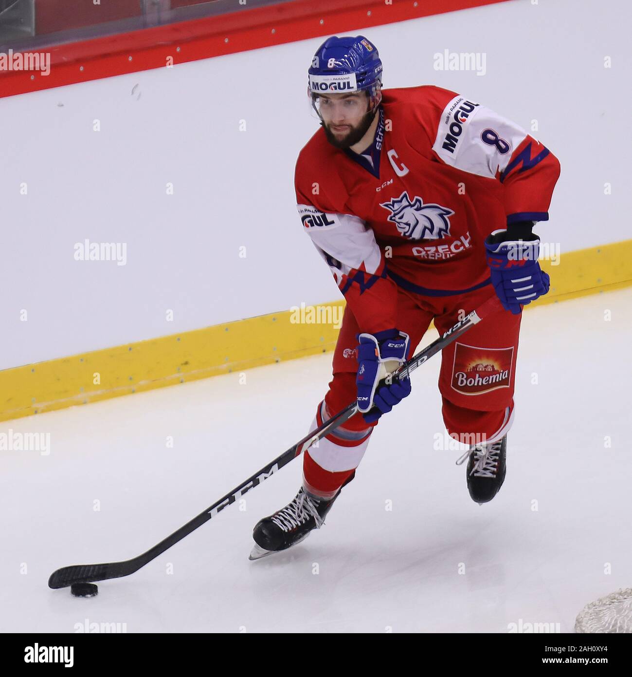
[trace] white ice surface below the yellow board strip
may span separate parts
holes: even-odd
[[[303,437],[331,353],[2,423],[50,433],[50,453],[0,455],[0,631],[572,632],[632,585],[631,305],[627,288],[525,312],[491,503],[470,500],[460,451],[434,448],[437,355],[320,531],[248,560],[253,525],[299,488],[297,459],[95,598],[47,579],[144,552]]]

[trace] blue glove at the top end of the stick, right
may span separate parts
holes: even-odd
[[[537,262],[540,238],[531,233],[524,239],[510,238],[506,230],[495,230],[485,240],[491,284],[505,310],[518,315],[522,308],[549,290],[549,276]]]

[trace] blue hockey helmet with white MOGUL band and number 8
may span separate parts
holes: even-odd
[[[341,94],[368,90],[370,109],[382,95],[382,62],[377,47],[364,35],[333,36],[316,50],[308,71],[308,95],[318,112],[320,93]]]

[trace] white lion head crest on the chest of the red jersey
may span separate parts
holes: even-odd
[[[411,240],[438,240],[450,234],[450,222],[454,212],[439,204],[424,204],[415,196],[410,200],[405,190],[399,198],[380,202],[380,206],[391,212],[389,221],[397,226],[399,234]]]

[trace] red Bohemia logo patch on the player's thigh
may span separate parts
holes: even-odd
[[[452,388],[462,395],[481,395],[508,388],[514,348],[477,348],[457,343]]]

